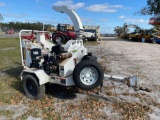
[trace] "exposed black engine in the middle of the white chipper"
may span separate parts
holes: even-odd
[[[64,51],[64,48],[60,44],[53,46],[51,52],[45,55],[42,55],[41,49],[33,48],[31,50],[32,63],[30,67],[44,69],[48,75],[51,73],[58,74],[59,64],[71,56],[72,54]]]

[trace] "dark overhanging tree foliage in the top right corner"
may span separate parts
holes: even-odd
[[[160,0],[147,0],[147,6],[137,13],[141,15],[160,15]]]

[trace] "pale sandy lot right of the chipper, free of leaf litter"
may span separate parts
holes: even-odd
[[[151,92],[137,91],[145,93],[142,97],[149,97],[153,101],[160,103],[160,45],[133,41],[124,41],[116,38],[104,38],[100,45],[88,47],[99,60],[105,61],[103,66],[107,68],[107,74],[129,76],[138,75],[140,86],[146,87]],[[106,85],[107,87],[107,85]],[[124,93],[125,87],[118,86],[118,93]],[[127,88],[129,93],[135,93],[131,88]],[[131,90],[131,91],[130,91]],[[119,97],[128,99],[128,96],[119,94]],[[129,102],[136,101],[136,98],[129,98]],[[149,103],[145,103],[149,104]],[[152,105],[150,107],[153,107]],[[154,106],[156,107],[156,105]],[[160,109],[153,107],[153,113],[148,114],[152,120],[160,119]]]

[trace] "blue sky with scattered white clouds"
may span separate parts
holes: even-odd
[[[75,10],[83,25],[99,25],[101,33],[114,33],[114,27],[124,23],[143,29],[151,16],[136,14],[147,5],[147,0],[0,0],[0,22],[43,22],[73,24],[69,16],[56,12],[52,6],[68,6]]]

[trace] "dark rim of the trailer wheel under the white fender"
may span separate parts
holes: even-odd
[[[36,83],[31,80],[31,79],[28,79],[26,81],[26,87],[27,87],[27,90],[28,92],[32,95],[32,96],[36,96],[38,94],[38,90],[37,90],[37,86],[36,86]]]

